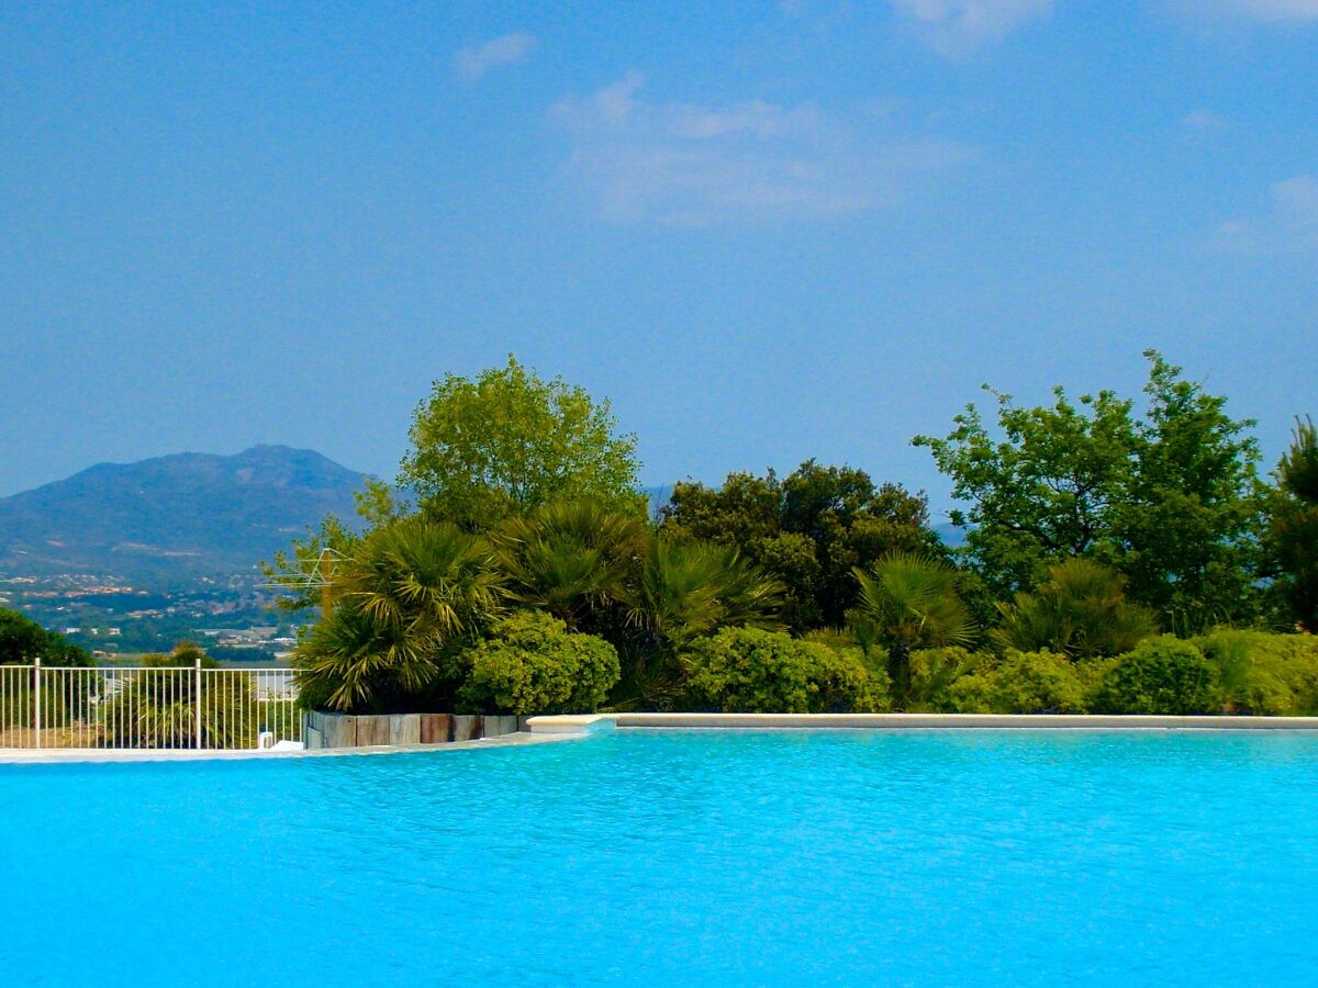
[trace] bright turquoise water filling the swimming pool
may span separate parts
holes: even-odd
[[[1310,984],[1318,738],[0,767],[0,984]]]

